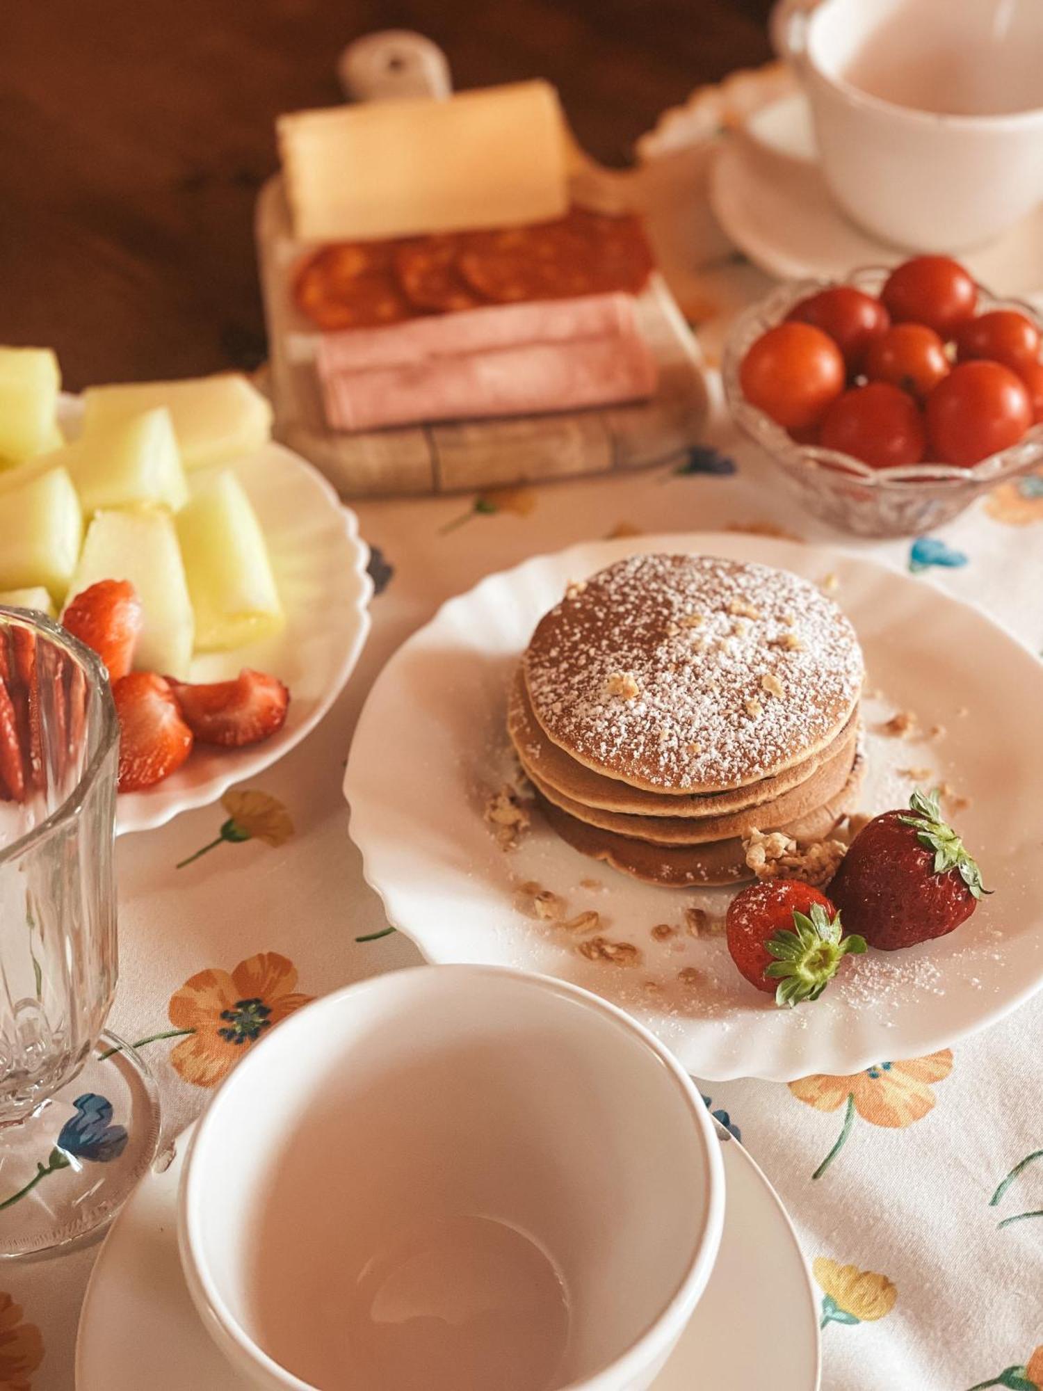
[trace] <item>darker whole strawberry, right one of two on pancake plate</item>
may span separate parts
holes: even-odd
[[[939,794],[914,791],[908,812],[886,811],[855,836],[829,893],[869,946],[894,951],[958,928],[989,890]]]

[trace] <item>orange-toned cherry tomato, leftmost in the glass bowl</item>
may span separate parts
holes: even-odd
[[[844,389],[840,349],[812,324],[776,324],[743,359],[747,401],[786,430],[812,426]]]

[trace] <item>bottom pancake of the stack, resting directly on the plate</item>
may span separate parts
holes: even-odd
[[[859,754],[855,757],[843,791],[827,805],[819,807],[809,817],[789,826],[762,826],[758,829],[784,830],[794,839],[804,842],[825,839],[844,817],[854,811],[862,785],[862,771],[864,759]],[[560,807],[555,807],[540,791],[537,791],[535,800],[548,825],[562,840],[579,850],[580,854],[602,860],[633,879],[642,879],[645,883],[655,883],[666,889],[706,889],[737,885],[754,878],[747,868],[740,837],[713,840],[704,846],[656,846],[648,840],[633,840],[612,830],[588,826],[562,811]]]

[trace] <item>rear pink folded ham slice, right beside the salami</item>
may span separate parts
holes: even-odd
[[[317,364],[323,376],[405,367],[428,357],[463,357],[522,344],[574,342],[637,332],[630,295],[584,295],[526,305],[490,305],[453,314],[412,319],[387,328],[323,334]]]

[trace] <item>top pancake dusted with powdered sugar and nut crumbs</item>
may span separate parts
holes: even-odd
[[[851,718],[854,629],[814,584],[718,556],[637,555],[572,586],[523,657],[548,739],[656,793],[747,787],[815,757]]]

